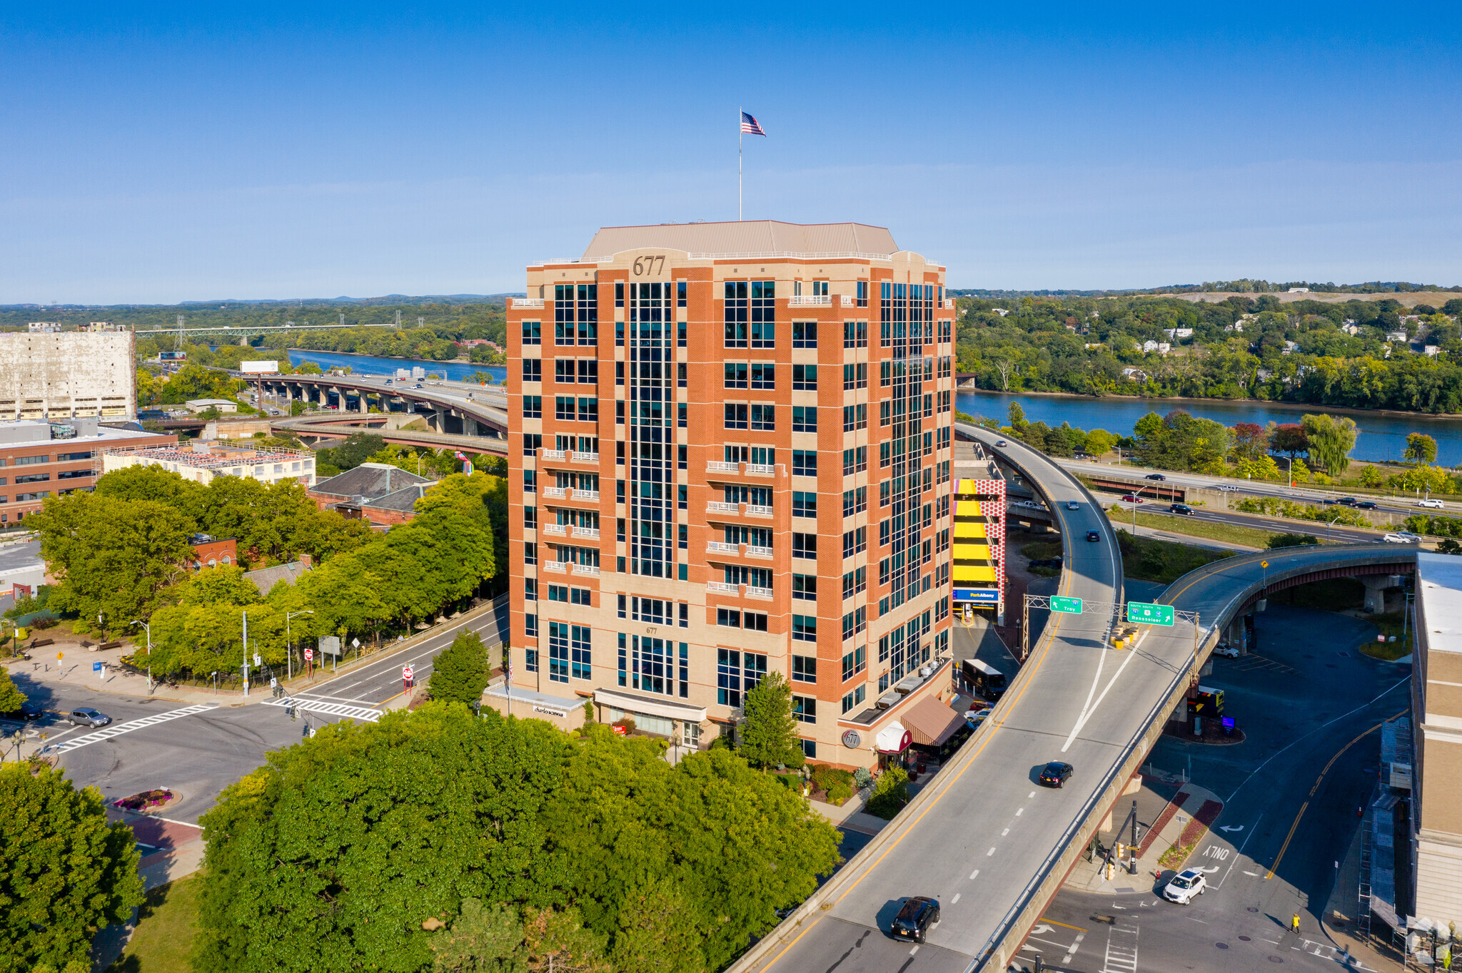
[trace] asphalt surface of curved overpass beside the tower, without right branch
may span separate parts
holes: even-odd
[[[975,432],[981,435],[982,431]],[[996,437],[988,437],[993,443]],[[1012,443],[1001,450],[1050,487],[1048,498],[1067,536],[1063,595],[1094,602],[1121,596],[1120,558],[1105,516],[1091,497],[1048,459]],[[1080,504],[1067,510],[1066,501]],[[1088,543],[1098,530],[1102,543]],[[770,951],[757,969],[885,973],[965,970],[1009,922],[1012,904],[1041,871],[1061,836],[1085,817],[1086,786],[1039,787],[1041,767],[1056,758],[1077,766],[1077,780],[1095,789],[1102,768],[1120,752],[1117,725],[1129,701],[1105,695],[1113,660],[1104,649],[1110,617],[1061,615],[1026,663],[1025,690],[1007,692],[997,714],[966,744],[975,754],[958,776],[936,782],[943,792],[917,821],[896,823],[898,843],[845,887],[830,909],[806,923],[785,951]],[[1137,678],[1137,672],[1132,674]],[[950,771],[946,771],[950,773]],[[908,896],[933,896],[942,922],[928,942],[914,947],[885,931]]]

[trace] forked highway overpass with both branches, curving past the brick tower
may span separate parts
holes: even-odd
[[[1092,497],[1019,441],[956,425],[962,438],[1019,469],[1045,497],[1066,541],[1060,595],[1079,615],[1053,615],[994,716],[908,808],[731,969],[735,973],[971,973],[1004,970],[1123,795],[1218,641],[1266,590],[1341,574],[1414,570],[1396,545],[1289,548],[1240,555],[1178,579],[1161,599],[1186,621],[1145,627],[1111,649],[1111,605],[1123,600],[1111,526]],[[1069,510],[1067,503],[1079,504]],[[1085,541],[1098,530],[1099,541]],[[1263,564],[1268,561],[1268,567]],[[1196,618],[1193,617],[1196,614]],[[1060,790],[1035,783],[1050,760],[1075,766]],[[923,947],[886,929],[908,896],[942,903]]]

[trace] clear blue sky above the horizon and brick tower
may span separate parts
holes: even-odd
[[[520,291],[734,219],[738,105],[952,286],[1462,283],[1455,3],[216,6],[0,13],[0,302]]]

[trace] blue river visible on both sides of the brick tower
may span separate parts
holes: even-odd
[[[363,375],[395,375],[398,368],[425,368],[427,373],[437,373],[456,381],[465,381],[474,371],[485,371],[506,381],[507,368],[503,365],[471,365],[458,361],[423,361],[414,358],[377,358],[374,355],[348,355],[344,352],[326,351],[289,351],[289,362],[298,365],[301,361],[313,361],[320,368],[341,368],[349,365]],[[1272,422],[1298,422],[1306,412],[1335,412],[1349,415],[1355,419],[1361,434],[1355,440],[1351,457],[1363,460],[1399,460],[1406,449],[1406,434],[1425,432],[1437,441],[1437,462],[1443,466],[1462,465],[1462,419],[1434,418],[1427,415],[1398,415],[1376,413],[1363,411],[1336,411],[1323,406],[1300,406],[1273,402],[1232,402],[1228,399],[1130,399],[1123,396],[1108,396],[1094,399],[1089,396],[1031,396],[1006,394],[1000,392],[961,392],[956,408],[974,416],[991,416],[1001,422],[1012,402],[1019,402],[1025,409],[1025,418],[1032,422],[1041,421],[1047,425],[1070,422],[1082,430],[1107,430],[1118,435],[1132,435],[1132,427],[1149,412],[1162,415],[1173,409],[1184,409],[1205,419],[1216,419],[1224,425],[1235,422],[1257,422],[1268,425]]]

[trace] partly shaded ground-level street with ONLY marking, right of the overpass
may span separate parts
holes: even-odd
[[[1022,951],[1026,964],[1041,951],[1082,973],[1256,970],[1278,966],[1272,957],[1316,973],[1368,969],[1347,961],[1320,919],[1360,824],[1355,808],[1376,782],[1379,725],[1408,706],[1409,666],[1360,653],[1371,633],[1344,615],[1270,603],[1257,617],[1259,655],[1215,659],[1205,676],[1225,691],[1247,739],[1212,747],[1164,736],[1151,757],[1159,770],[1192,768],[1225,799],[1187,862],[1205,869],[1209,890],[1177,906],[1156,896],[1161,881],[1151,877],[1132,894],[1066,888]],[[1354,915],[1355,890],[1341,888],[1336,906]],[[1298,936],[1288,932],[1295,912]]]

